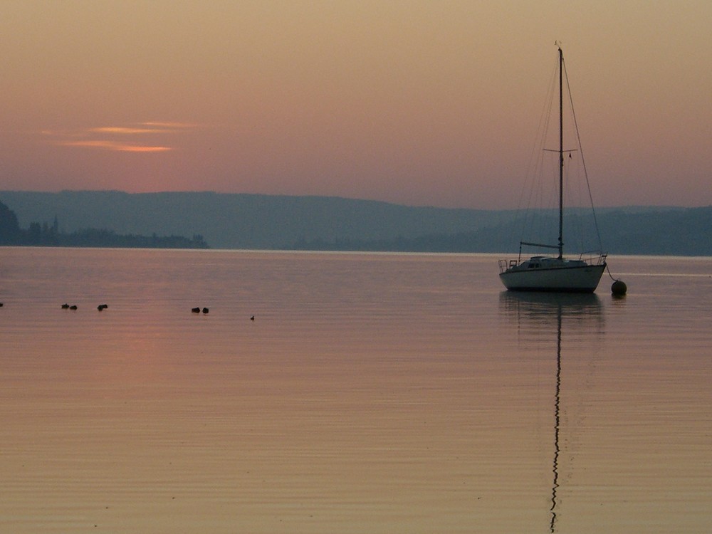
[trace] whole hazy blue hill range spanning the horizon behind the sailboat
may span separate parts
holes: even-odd
[[[92,228],[126,235],[201,236],[211,248],[506,253],[518,249],[522,235],[515,211],[337,197],[6,191],[0,192],[0,201],[16,213],[21,226],[53,224],[56,217],[65,233]],[[712,206],[608,208],[597,214],[609,253],[712,256]],[[575,210],[568,211],[566,228],[578,219]]]

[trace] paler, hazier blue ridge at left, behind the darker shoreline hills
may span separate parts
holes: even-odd
[[[21,226],[58,219],[61,231],[204,237],[211,248],[293,248],[298,241],[414,238],[473,231],[506,212],[398,206],[334,197],[212,192],[0,192]]]

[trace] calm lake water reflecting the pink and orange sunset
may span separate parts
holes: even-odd
[[[0,531],[708,533],[712,258],[497,259],[0,248]]]

